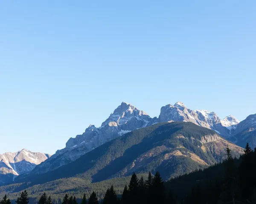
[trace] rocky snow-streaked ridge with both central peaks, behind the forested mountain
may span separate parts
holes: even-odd
[[[225,138],[231,136],[238,123],[238,120],[233,116],[227,116],[221,120],[214,112],[205,110],[192,111],[186,108],[182,102],[163,106],[158,118],[151,118],[144,111],[140,111],[131,104],[122,102],[108,119],[102,122],[100,127],[90,125],[83,134],[77,135],[76,138],[70,138],[64,149],[58,150],[50,159],[35,167],[32,173],[40,174],[55,170],[125,133],[142,127],[148,127],[158,122],[169,121],[192,122],[196,125],[215,130],[215,132]]]

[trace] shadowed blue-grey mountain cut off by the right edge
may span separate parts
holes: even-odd
[[[230,140],[240,146],[248,142],[250,147],[256,147],[256,114],[239,122]]]

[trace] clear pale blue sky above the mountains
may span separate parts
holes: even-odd
[[[255,0],[0,3],[0,153],[55,153],[122,101],[256,113]]]

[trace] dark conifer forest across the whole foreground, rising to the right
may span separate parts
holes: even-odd
[[[122,194],[116,193],[113,185],[105,192],[103,198],[92,192],[88,198],[76,198],[68,192],[61,198],[62,204],[256,204],[256,148],[252,150],[247,144],[244,155],[233,158],[227,147],[227,158],[205,170],[163,182],[160,173],[148,173],[146,179],[133,173],[125,185]],[[15,200],[18,204],[28,204],[29,195],[25,190]],[[53,204],[51,196],[43,193],[37,201],[30,203]],[[10,204],[4,196],[0,204]]]

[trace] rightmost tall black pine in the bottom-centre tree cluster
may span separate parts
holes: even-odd
[[[165,189],[163,185],[163,179],[161,178],[160,173],[158,171],[154,176],[152,189],[154,192],[154,195],[153,195],[154,203],[158,203],[158,204],[163,203],[163,201],[165,200],[165,195],[164,195]]]

